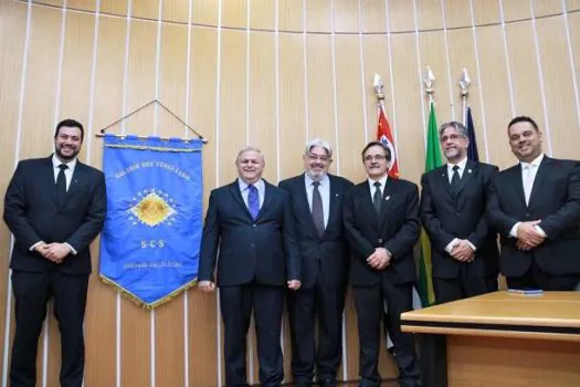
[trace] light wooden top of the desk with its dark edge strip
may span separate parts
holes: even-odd
[[[403,331],[580,341],[580,292],[506,291],[401,314]]]

